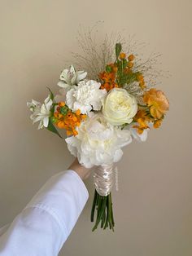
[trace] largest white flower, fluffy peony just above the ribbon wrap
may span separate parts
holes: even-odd
[[[68,150],[86,168],[120,161],[122,147],[132,142],[129,130],[107,123],[101,113],[92,114],[77,128],[78,135],[68,137]]]

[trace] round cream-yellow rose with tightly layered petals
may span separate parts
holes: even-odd
[[[127,90],[114,88],[103,100],[103,116],[114,126],[133,121],[137,113],[137,100]]]

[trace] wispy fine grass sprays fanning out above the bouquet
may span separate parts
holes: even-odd
[[[121,33],[105,33],[103,35],[98,29],[98,24],[87,29],[80,26],[76,37],[80,52],[72,53],[73,64],[77,69],[85,70],[89,79],[98,81],[98,73],[105,69],[106,64],[116,60],[116,42],[121,43],[123,51],[127,55],[135,55],[133,71],[143,73],[147,88],[155,86],[157,83],[159,84],[159,77],[168,76],[168,73],[160,69],[161,54],[153,52],[146,56],[148,50],[146,43],[138,42],[135,36],[126,36],[127,33],[124,31]],[[122,34],[125,36],[122,36]],[[137,96],[137,99],[143,94],[143,90],[140,89],[137,83],[129,84],[129,86],[125,87],[130,93]]]

